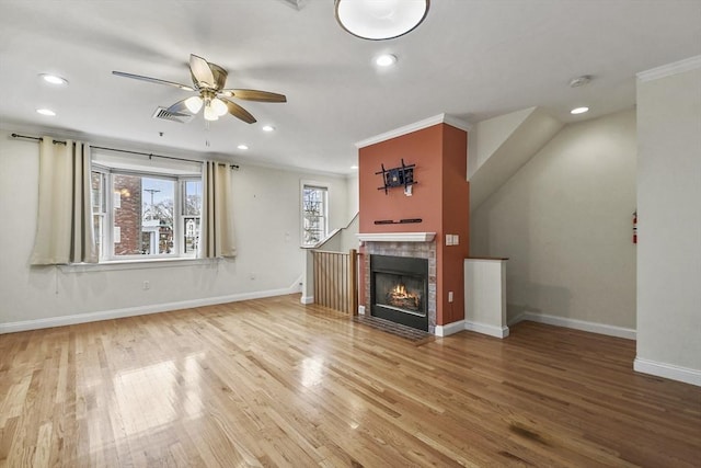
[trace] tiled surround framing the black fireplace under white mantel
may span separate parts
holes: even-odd
[[[436,241],[428,242],[398,242],[398,241],[365,241],[363,255],[365,310],[370,313],[370,255],[412,256],[428,259],[428,332],[436,332]]]

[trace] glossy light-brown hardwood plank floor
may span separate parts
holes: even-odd
[[[701,463],[701,389],[522,322],[422,344],[297,296],[0,335],[0,466]]]

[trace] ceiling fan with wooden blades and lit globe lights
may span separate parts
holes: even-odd
[[[249,111],[241,107],[229,98],[242,99],[244,101],[258,102],[287,102],[285,94],[277,94],[257,90],[225,89],[227,83],[227,70],[216,64],[208,62],[194,54],[189,56],[189,73],[193,85],[176,83],[173,81],[160,80],[158,78],[142,77],[140,75],[125,73],[124,71],[113,71],[118,77],[134,78],[141,81],[150,81],[158,84],[168,84],[185,91],[194,91],[193,95],[168,107],[172,114],[182,114],[185,111],[196,114],[204,106],[204,116],[207,121],[216,121],[227,113],[242,119],[248,124],[253,124],[255,117]]]

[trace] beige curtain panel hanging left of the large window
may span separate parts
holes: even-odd
[[[39,146],[39,203],[31,263],[96,263],[90,203],[90,146],[81,141]]]

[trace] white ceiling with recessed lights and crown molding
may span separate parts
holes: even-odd
[[[563,122],[591,118],[634,104],[636,72],[701,54],[701,0],[433,0],[420,27],[384,42],[345,33],[332,0],[299,3],[0,0],[0,125],[350,173],[354,144],[375,135],[441,113],[474,123],[542,106]],[[397,66],[378,70],[380,53]],[[228,88],[288,102],[239,101],[258,123],[227,115],[207,129],[202,113],[151,118],[185,91],[112,75],[189,84],[189,54],[229,70]],[[570,88],[581,75],[594,80]],[[571,116],[577,105],[591,111]]]

